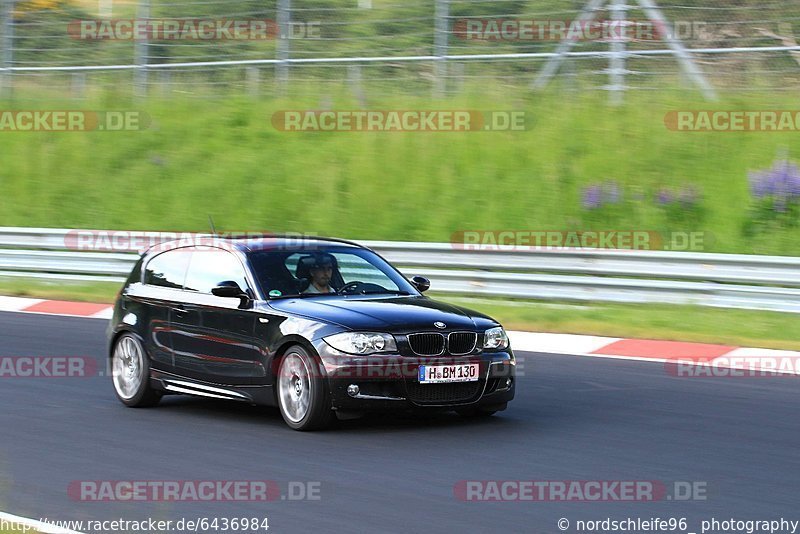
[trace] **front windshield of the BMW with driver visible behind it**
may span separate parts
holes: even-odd
[[[417,295],[375,253],[348,246],[258,250],[248,254],[268,299],[335,295]]]

